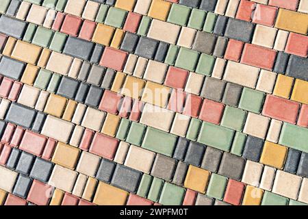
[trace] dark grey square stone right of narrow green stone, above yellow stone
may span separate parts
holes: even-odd
[[[59,88],[57,88],[57,94],[68,99],[74,99],[78,86],[79,81],[70,77],[62,77]]]

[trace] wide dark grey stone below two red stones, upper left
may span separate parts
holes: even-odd
[[[93,47],[93,42],[69,36],[66,40],[63,53],[66,55],[77,57],[81,60],[90,61],[90,55],[92,53]]]

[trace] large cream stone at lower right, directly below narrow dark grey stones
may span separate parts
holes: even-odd
[[[277,170],[272,192],[287,198],[297,199],[302,178],[289,172]]]

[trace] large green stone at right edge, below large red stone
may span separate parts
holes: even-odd
[[[308,153],[308,129],[290,123],[283,123],[279,144]]]

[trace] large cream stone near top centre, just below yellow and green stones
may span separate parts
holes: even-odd
[[[155,40],[168,42],[170,44],[175,44],[177,42],[177,36],[179,36],[180,29],[181,27],[178,25],[153,19],[148,32],[148,37]]]

